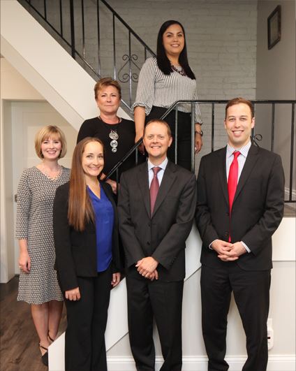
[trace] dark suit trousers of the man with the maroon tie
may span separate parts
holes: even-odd
[[[155,370],[154,318],[164,359],[161,371],[182,369],[183,286],[184,281],[126,277],[129,340],[138,371]]]

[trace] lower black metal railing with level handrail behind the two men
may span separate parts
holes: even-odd
[[[200,105],[200,108],[202,111],[204,111],[202,108],[205,108],[205,106],[209,106],[209,110],[208,112],[205,112],[205,116],[204,116],[204,125],[205,125],[205,134],[206,136],[209,137],[209,142],[210,144],[208,145],[208,150],[209,152],[213,152],[214,150],[218,149],[219,147],[223,147],[223,145],[225,145],[225,140],[226,140],[226,137],[225,136],[220,136],[221,138],[221,143],[215,143],[215,139],[216,139],[216,134],[217,134],[217,125],[219,124],[219,128],[221,129],[221,123],[223,122],[223,119],[225,117],[225,105],[226,103],[228,103],[227,100],[215,100],[215,101],[212,101],[212,100],[199,100],[199,101],[177,101],[174,105],[172,105],[170,108],[168,108],[168,110],[164,113],[163,116],[160,117],[160,119],[165,119],[165,117],[168,116],[168,114],[170,112],[172,112],[172,110],[175,110],[176,112],[176,115],[175,115],[175,162],[177,162],[177,126],[178,126],[178,116],[177,116],[177,108],[179,106],[179,104],[184,104],[184,103],[188,103],[191,105],[191,138],[192,138],[192,143],[191,143],[191,170],[194,171],[195,170],[195,152],[194,152],[194,131],[195,131],[195,120],[194,120],[194,112],[195,112],[195,105],[196,104],[199,104]],[[288,176],[286,174],[286,184],[287,184],[287,187],[286,189],[288,189],[288,198],[285,198],[285,202],[286,203],[296,203],[296,198],[294,196],[293,198],[293,167],[294,167],[294,163],[293,163],[293,159],[295,157],[295,150],[294,150],[294,137],[295,137],[295,103],[296,101],[295,100],[276,100],[276,101],[265,101],[265,100],[258,100],[258,101],[252,101],[253,103],[253,106],[254,106],[254,110],[255,110],[255,113],[256,113],[256,118],[258,118],[258,116],[262,116],[262,114],[264,114],[264,119],[267,119],[267,116],[269,115],[269,112],[258,112],[258,108],[260,106],[269,106],[267,108],[270,108],[271,109],[271,113],[270,113],[270,117],[269,117],[269,130],[270,130],[270,140],[266,140],[266,138],[269,136],[269,134],[267,133],[267,130],[266,130],[266,126],[265,126],[265,147],[268,149],[268,150],[271,150],[272,152],[274,152],[274,142],[275,142],[275,128],[276,128],[276,108],[279,110],[279,106],[283,106],[283,105],[288,105],[290,108],[288,110],[286,110],[286,112],[288,112],[288,114],[290,115],[290,120],[289,122],[285,122],[284,123],[284,127],[281,128],[283,131],[288,131],[290,130],[290,159],[289,159],[289,171],[288,171]],[[217,106],[220,106],[220,110],[217,110]],[[266,107],[265,107],[266,108]],[[206,110],[205,110],[206,111]],[[217,112],[218,111],[218,112]],[[262,119],[262,117],[261,117]],[[262,134],[260,133],[256,133],[255,131],[260,131],[260,122],[259,122],[260,119],[258,119],[258,124],[256,124],[255,128],[252,130],[252,135],[251,135],[251,140],[253,142],[253,144],[255,145],[259,145],[258,142],[260,142],[262,140],[262,138],[264,138],[262,136]],[[208,124],[210,124],[210,133],[209,131],[207,131],[207,128],[209,127]],[[281,123],[282,124],[282,123]],[[218,140],[216,140],[217,142],[219,142]],[[126,155],[121,159],[121,161],[119,161],[111,170],[110,172],[107,174],[107,177],[110,177],[110,175],[116,173],[117,175],[117,183],[119,182],[119,179],[118,179],[118,169],[119,167],[122,165],[122,163],[124,163],[124,161],[126,161],[126,159],[128,159],[128,157],[132,156],[133,154],[135,155],[136,159],[136,163],[137,163],[137,159],[138,159],[138,151],[137,151],[137,148],[138,146],[142,143],[142,138],[140,140],[138,140],[137,143],[135,143],[135,145],[133,145],[133,147],[131,148],[131,150],[129,150]],[[222,144],[223,143],[223,144]],[[288,143],[286,143],[286,145],[288,145]],[[286,172],[287,173],[287,172]]]

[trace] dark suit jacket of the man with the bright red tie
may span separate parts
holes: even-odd
[[[212,267],[225,262],[209,244],[228,241],[230,228],[225,156],[226,147],[202,157],[198,173],[195,219],[203,243],[200,261]],[[272,234],[283,217],[284,184],[281,157],[251,145],[231,212],[232,242],[243,241],[251,250],[237,260],[244,270],[272,268]]]

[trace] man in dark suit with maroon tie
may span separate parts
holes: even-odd
[[[155,369],[155,318],[161,371],[179,371],[185,241],[195,213],[195,175],[168,161],[172,136],[166,122],[148,122],[143,141],[148,161],[121,175],[118,203],[131,351],[138,371]]]

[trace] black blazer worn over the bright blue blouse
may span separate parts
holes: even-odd
[[[119,235],[117,208],[109,184],[100,182],[114,210],[114,228],[112,235],[113,271],[121,270],[119,254]],[[54,197],[54,247],[56,261],[54,268],[58,271],[62,291],[78,286],[77,276],[96,277],[96,226],[89,222],[83,232],[76,231],[68,224],[69,182],[57,188]]]

